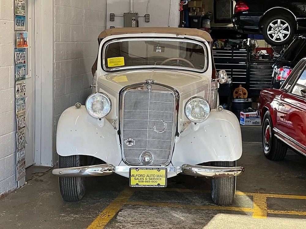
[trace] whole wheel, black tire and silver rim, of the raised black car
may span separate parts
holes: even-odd
[[[280,26],[277,24],[278,20],[280,20]],[[273,28],[271,24],[274,26],[276,25],[276,27]],[[284,27],[286,24],[288,25]],[[271,32],[271,34],[268,34],[268,31]],[[272,33],[274,31],[275,33]],[[263,38],[268,44],[273,46],[289,44],[293,39],[294,33],[295,23],[289,17],[283,15],[272,16],[268,18],[263,25]],[[283,37],[283,40],[281,37]],[[273,40],[274,38],[275,40]]]

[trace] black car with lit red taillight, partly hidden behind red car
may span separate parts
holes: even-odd
[[[294,38],[281,57],[275,59],[272,88],[279,89],[297,63],[306,57],[306,35]]]

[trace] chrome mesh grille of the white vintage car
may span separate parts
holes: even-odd
[[[125,162],[140,165],[140,154],[149,151],[154,155],[152,165],[167,165],[176,126],[174,93],[127,90],[123,96],[122,151]],[[134,140],[132,146],[125,144],[130,138]]]

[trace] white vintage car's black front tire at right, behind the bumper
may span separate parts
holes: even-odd
[[[212,166],[234,167],[234,162],[211,162]],[[217,205],[232,205],[236,192],[236,176],[211,178],[211,199]]]

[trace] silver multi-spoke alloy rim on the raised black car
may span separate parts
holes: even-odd
[[[290,25],[282,19],[272,21],[267,28],[268,36],[274,42],[285,41],[289,37],[290,32]]]

